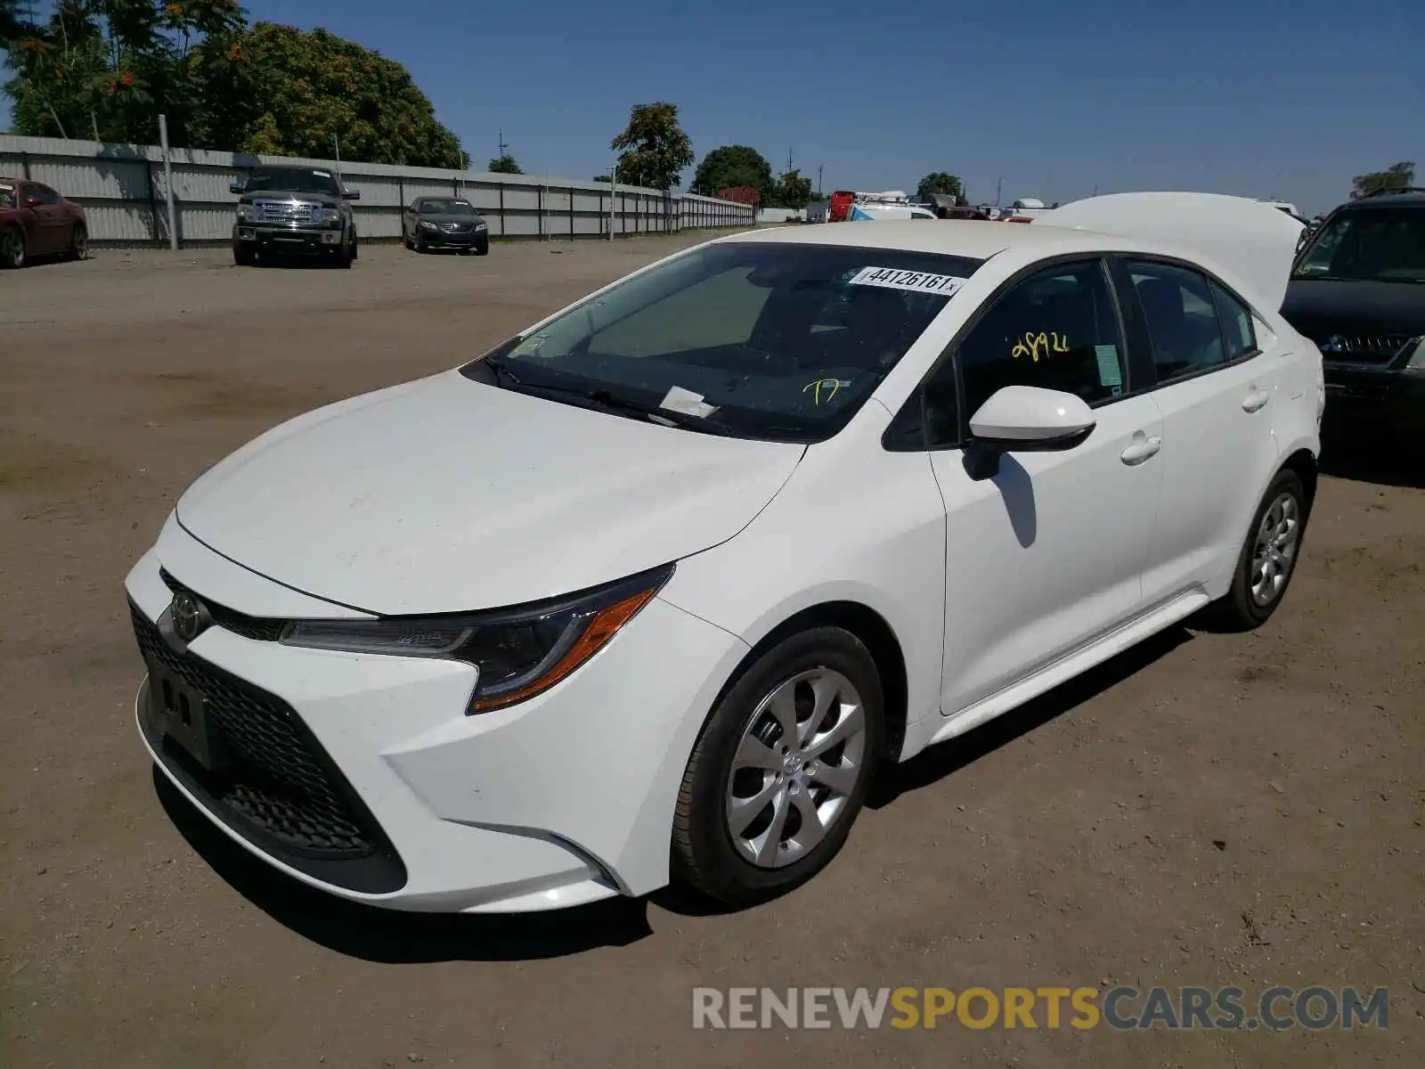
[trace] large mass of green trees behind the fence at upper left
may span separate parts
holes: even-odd
[[[325,30],[248,26],[238,0],[57,0],[30,23],[0,0],[4,90],[21,134],[465,165],[399,63]]]

